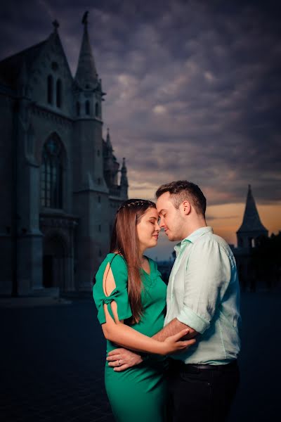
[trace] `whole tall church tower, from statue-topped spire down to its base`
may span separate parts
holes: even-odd
[[[93,272],[109,244],[109,189],[103,172],[102,97],[88,33],[88,13],[74,79],[76,117],[74,122],[74,210],[77,227],[77,272],[80,290],[91,286]],[[85,251],[87,251],[85,253]]]

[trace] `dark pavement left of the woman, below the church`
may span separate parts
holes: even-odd
[[[2,421],[113,422],[103,385],[105,341],[91,299],[0,315]]]

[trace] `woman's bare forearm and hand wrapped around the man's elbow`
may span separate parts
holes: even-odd
[[[104,305],[106,322],[105,324],[102,324],[102,328],[105,338],[112,341],[112,343],[138,352],[164,355],[180,352],[195,343],[195,340],[179,341],[183,335],[188,333],[188,330],[186,329],[180,333],[176,333],[176,335],[171,335],[162,342],[150,338],[147,335],[138,333],[138,331],[133,328],[126,326],[123,321],[119,321],[116,302],[111,302],[111,308],[115,319],[112,319],[112,316],[110,316],[110,313],[108,312],[107,305]]]

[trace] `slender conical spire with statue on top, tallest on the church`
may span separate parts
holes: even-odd
[[[89,33],[88,33],[88,14],[85,12],[82,24],[84,25],[84,34],[79,53],[79,60],[75,81],[82,89],[93,89],[98,82],[98,72],[96,70],[95,60],[91,49]]]

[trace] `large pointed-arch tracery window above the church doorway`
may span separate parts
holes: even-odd
[[[43,148],[41,205],[48,208],[63,207],[63,146],[55,138],[49,139]]]

